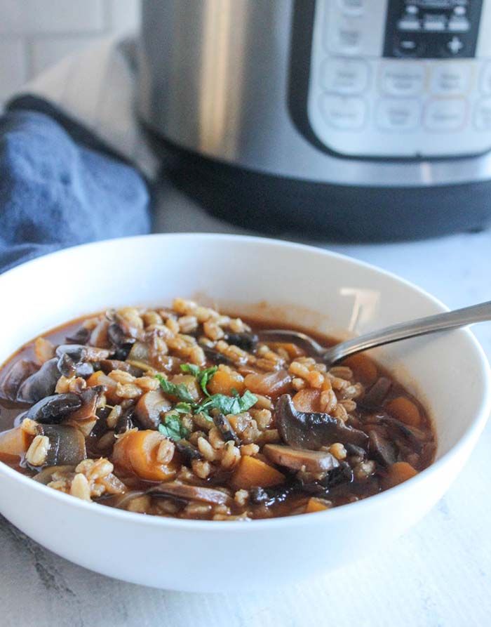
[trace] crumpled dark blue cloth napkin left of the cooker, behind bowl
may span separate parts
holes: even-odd
[[[50,103],[0,117],[0,272],[51,251],[150,230],[142,175]]]

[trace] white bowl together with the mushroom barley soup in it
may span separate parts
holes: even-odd
[[[0,287],[2,513],[136,583],[237,589],[344,565],[438,500],[489,409],[469,331],[329,369],[264,340],[283,326],[329,343],[443,310],[307,246],[121,239],[34,260]]]

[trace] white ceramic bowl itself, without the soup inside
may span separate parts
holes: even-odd
[[[0,276],[0,363],[53,326],[107,306],[199,296],[321,331],[363,333],[444,310],[407,282],[308,246],[228,235],[153,235],[77,246]],[[0,463],[0,510],[27,535],[86,568],[147,586],[243,590],[334,569],[408,529],[450,486],[490,411],[490,369],[467,330],[380,349],[423,400],[436,462],[365,501],[253,522],[173,520],[86,503]],[[472,489],[472,487],[470,487]]]

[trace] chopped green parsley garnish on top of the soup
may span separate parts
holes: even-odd
[[[181,364],[182,372],[192,374],[196,377],[196,381],[198,381],[201,390],[203,390],[203,394],[206,395],[206,399],[201,403],[194,402],[193,397],[191,397],[191,393],[184,383],[170,383],[170,381],[160,374],[156,375],[156,378],[160,381],[163,391],[166,392],[166,394],[173,395],[180,400],[174,408],[175,411],[177,411],[177,415],[172,415],[170,418],[179,418],[178,414],[191,413],[204,414],[207,418],[209,418],[209,412],[212,409],[217,409],[220,411],[220,414],[241,414],[242,411],[247,411],[256,404],[257,397],[249,390],[245,390],[242,396],[238,394],[237,390],[233,390],[233,396],[210,394],[210,392],[208,392],[207,385],[217,369],[217,366],[213,366],[211,368],[206,368],[205,370],[200,370],[199,367],[194,364]],[[160,432],[164,433],[162,428],[165,429],[166,426],[159,426]]]

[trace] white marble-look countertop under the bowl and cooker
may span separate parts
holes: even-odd
[[[169,189],[161,194],[155,229],[235,231]],[[491,232],[328,248],[396,272],[452,308],[491,300]],[[475,332],[491,356],[491,324]],[[0,625],[483,627],[491,619],[490,451],[491,424],[445,498],[384,553],[262,594],[190,595],[107,579],[2,521]]]

